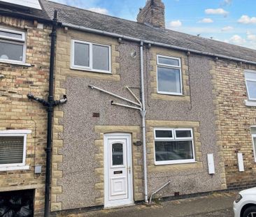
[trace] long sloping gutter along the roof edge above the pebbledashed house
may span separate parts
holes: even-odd
[[[118,33],[111,33],[111,32],[108,32],[108,31],[102,31],[102,30],[98,30],[98,29],[80,27],[80,26],[69,24],[69,23],[66,23],[66,22],[62,22],[62,27],[69,27],[71,29],[77,29],[77,30],[80,30],[80,31],[86,31],[86,32],[90,32],[90,33],[97,33],[97,34],[104,35],[104,36],[122,38],[122,39],[125,39],[125,40],[131,40],[131,41],[134,41],[134,42],[137,42],[137,43],[141,43],[141,41],[142,41],[141,38],[133,38],[133,37],[121,35],[121,34],[118,34]],[[226,55],[214,54],[214,53],[211,53],[211,52],[203,52],[203,51],[194,50],[194,49],[190,49],[190,48],[178,47],[176,45],[169,45],[169,44],[165,44],[165,43],[157,43],[157,42],[154,42],[154,41],[151,41],[151,40],[143,40],[143,42],[145,44],[155,45],[155,46],[159,46],[159,47],[166,47],[166,48],[171,48],[171,49],[174,49],[174,50],[180,50],[180,51],[184,51],[184,52],[192,52],[194,54],[201,54],[201,55],[206,55],[206,56],[210,56],[210,57],[218,57],[218,58],[222,58],[222,59],[228,59],[228,60],[239,61],[239,62],[243,62],[243,63],[249,63],[249,64],[256,65],[256,61],[248,61],[246,59],[240,59],[240,58],[236,58],[236,57],[229,57],[229,56],[226,56]]]

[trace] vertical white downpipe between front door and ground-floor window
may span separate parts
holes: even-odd
[[[141,41],[141,119],[142,119],[142,139],[143,139],[143,170],[144,170],[144,195],[145,203],[148,203],[148,172],[147,172],[147,148],[145,146],[145,92],[144,92],[144,65],[143,65],[143,41]]]

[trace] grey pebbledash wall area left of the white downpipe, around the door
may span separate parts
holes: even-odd
[[[66,80],[66,93],[69,97],[64,106],[64,148],[62,150],[63,178],[59,181],[63,193],[59,196],[63,209],[94,206],[97,194],[93,191],[95,180],[94,167],[94,126],[139,126],[141,118],[139,111],[111,105],[112,96],[92,90],[87,87],[93,84],[120,96],[134,100],[125,90],[131,87],[139,96],[139,58],[131,57],[131,52],[139,52],[138,46],[129,43],[121,44],[120,50],[120,82],[99,80],[85,77],[69,76]],[[85,72],[86,73],[86,72]],[[92,117],[93,112],[99,112],[100,117]]]

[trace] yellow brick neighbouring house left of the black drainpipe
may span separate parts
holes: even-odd
[[[51,20],[38,1],[0,1],[0,216],[42,216]]]

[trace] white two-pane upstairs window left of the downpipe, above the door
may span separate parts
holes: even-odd
[[[111,46],[71,40],[71,68],[111,73]]]

